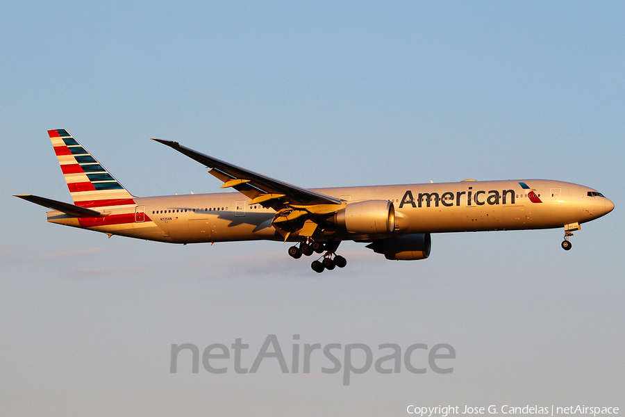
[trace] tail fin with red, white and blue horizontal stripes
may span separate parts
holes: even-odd
[[[50,130],[48,135],[76,206],[134,204],[133,195],[65,129]]]

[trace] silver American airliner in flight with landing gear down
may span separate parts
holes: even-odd
[[[614,204],[593,188],[545,179],[415,183],[307,189],[151,138],[210,168],[238,193],[135,197],[65,129],[48,131],[74,204],[16,195],[50,208],[47,221],[166,243],[293,242],[295,259],[313,253],[315,272],[343,268],[343,240],[367,243],[390,260],[426,259],[431,234],[564,227],[562,248],[581,224]]]

